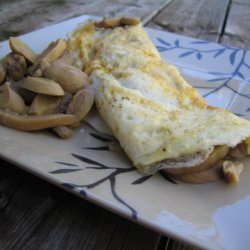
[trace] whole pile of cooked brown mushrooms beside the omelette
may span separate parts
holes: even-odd
[[[18,38],[0,61],[0,124],[23,131],[50,128],[61,138],[74,129],[94,103],[95,92],[75,55],[58,39],[37,55]]]

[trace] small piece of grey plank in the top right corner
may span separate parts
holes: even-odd
[[[249,1],[248,1],[249,2]],[[250,3],[250,2],[249,2]],[[250,49],[250,4],[231,4],[221,42]]]

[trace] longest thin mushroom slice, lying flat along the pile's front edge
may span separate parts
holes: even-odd
[[[78,123],[75,115],[48,114],[36,116],[17,115],[0,110],[0,124],[22,131],[33,131],[60,125],[74,125]]]

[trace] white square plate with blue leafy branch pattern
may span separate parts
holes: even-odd
[[[39,52],[86,18],[77,17],[21,39]],[[250,118],[249,51],[147,31],[162,56],[177,65],[209,103]],[[2,57],[9,49],[7,42],[1,45]],[[123,154],[107,150],[107,136],[84,124],[68,140],[1,126],[0,140],[2,158],[167,236],[206,249],[250,246],[249,168],[236,186],[222,181],[174,184],[158,174],[145,178]],[[249,167],[249,160],[245,165]]]

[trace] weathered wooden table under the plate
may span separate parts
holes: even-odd
[[[250,49],[249,0],[0,1],[0,40],[82,14]],[[192,249],[0,160],[0,249]]]

